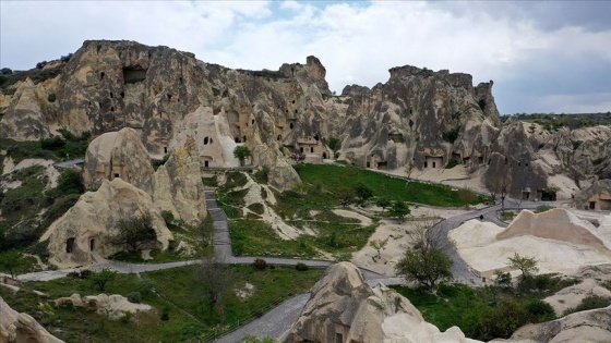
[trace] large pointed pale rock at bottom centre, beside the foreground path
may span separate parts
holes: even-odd
[[[312,297],[280,342],[478,342],[454,327],[424,321],[407,298],[380,284],[371,289],[357,267],[340,262],[312,287]]]

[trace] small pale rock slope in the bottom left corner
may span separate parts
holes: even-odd
[[[0,296],[0,342],[62,343],[27,314],[12,309]]]

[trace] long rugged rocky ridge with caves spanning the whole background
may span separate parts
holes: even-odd
[[[245,71],[167,47],[88,40],[67,60],[3,86],[2,137],[131,127],[149,154],[163,155],[191,136],[204,167],[238,166],[232,151],[245,145],[279,189],[299,181],[291,159],[337,154],[407,174],[464,164],[490,192],[528,199],[571,198],[594,176],[610,176],[609,125],[502,123],[493,83],[474,86],[468,74],[405,65],[391,69],[385,84],[333,96],[315,57]],[[336,139],[340,147],[328,145]]]

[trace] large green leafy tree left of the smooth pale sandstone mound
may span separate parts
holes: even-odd
[[[414,222],[408,235],[412,246],[395,266],[396,273],[429,290],[434,290],[439,281],[451,279],[453,261],[444,253],[450,245],[445,233],[424,220]]]

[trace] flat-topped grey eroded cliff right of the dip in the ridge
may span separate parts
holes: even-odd
[[[426,170],[488,159],[500,128],[492,83],[474,87],[468,74],[410,65],[390,72],[386,84],[343,91],[352,101],[343,150],[355,164]]]

